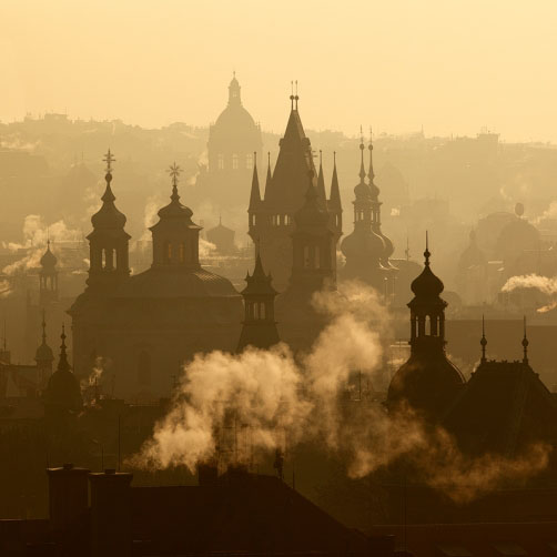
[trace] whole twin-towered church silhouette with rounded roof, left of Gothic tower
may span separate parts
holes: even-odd
[[[180,202],[173,166],[171,202],[151,226],[153,260],[130,276],[125,216],[115,207],[108,155],[103,204],[91,222],[88,287],[71,310],[75,373],[87,376],[102,357],[114,394],[148,401],[168,395],[172,376],[198,352],[233,351],[242,300],[231,282],[199,262],[201,227]]]

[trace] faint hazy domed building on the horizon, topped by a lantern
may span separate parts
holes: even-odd
[[[254,152],[261,153],[262,145],[261,128],[243,107],[234,74],[229,103],[209,129],[207,163],[200,168],[196,195],[221,203],[222,207],[242,206],[250,189]]]

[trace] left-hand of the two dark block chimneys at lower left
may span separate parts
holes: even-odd
[[[61,468],[48,468],[47,474],[50,528],[52,531],[63,533],[88,512],[89,470],[64,464]]]

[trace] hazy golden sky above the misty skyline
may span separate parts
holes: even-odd
[[[282,132],[557,142],[557,0],[0,0],[0,120],[44,111],[204,125],[236,70]]]

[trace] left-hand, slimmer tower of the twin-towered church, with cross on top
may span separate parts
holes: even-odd
[[[114,288],[130,275],[128,260],[128,242],[130,235],[125,232],[125,215],[114,205],[112,193],[112,153],[107,153],[107,189],[101,209],[91,217],[93,232],[89,234],[90,266],[87,281],[91,288]]]

